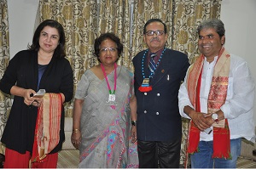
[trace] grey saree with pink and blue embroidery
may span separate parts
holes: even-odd
[[[130,99],[133,95],[133,74],[125,67],[117,68],[116,108],[106,104],[108,86],[105,79],[99,80],[91,70],[88,93],[80,121],[82,140],[79,167],[132,168],[138,167],[137,144],[131,143]],[[108,75],[113,88],[113,72]]]

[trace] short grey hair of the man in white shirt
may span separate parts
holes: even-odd
[[[201,24],[197,28],[198,35],[201,30],[213,28],[218,33],[219,37],[223,37],[225,35],[224,23],[218,19],[208,19],[201,22]]]

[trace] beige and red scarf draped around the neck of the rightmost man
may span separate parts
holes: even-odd
[[[195,111],[200,110],[200,85],[201,85],[201,70],[204,63],[204,56],[195,61],[191,65],[188,72],[187,88],[189,100],[195,107]],[[212,84],[207,100],[208,113],[213,113],[220,110],[220,107],[225,103],[228,91],[230,74],[230,54],[222,48],[219,52],[217,63],[214,66],[212,75]],[[220,127],[222,126],[222,127]],[[190,121],[189,138],[188,138],[188,153],[194,154],[199,152],[198,144],[200,141],[200,130],[195,126],[193,121]],[[213,125],[213,155],[212,158],[230,159],[230,129],[227,119],[219,121],[219,125]]]

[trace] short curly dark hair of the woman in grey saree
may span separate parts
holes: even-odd
[[[95,56],[96,58],[99,60],[99,62],[101,62],[101,60],[99,59],[100,57],[100,46],[102,44],[102,41],[105,41],[106,39],[110,39],[111,41],[115,42],[117,45],[117,50],[118,50],[118,56],[120,57],[120,55],[123,52],[123,44],[120,42],[119,37],[117,37],[116,35],[114,35],[111,32],[108,33],[103,33],[100,37],[97,37],[95,42],[94,42],[94,50],[95,50]],[[119,59],[119,58],[118,58]],[[117,60],[118,60],[117,59]]]

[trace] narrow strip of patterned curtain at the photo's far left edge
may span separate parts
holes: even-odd
[[[3,77],[4,70],[9,64],[9,22],[7,0],[0,1],[0,79]],[[3,135],[9,110],[11,107],[9,95],[0,92],[0,139]],[[4,154],[4,147],[0,143],[0,153]]]

